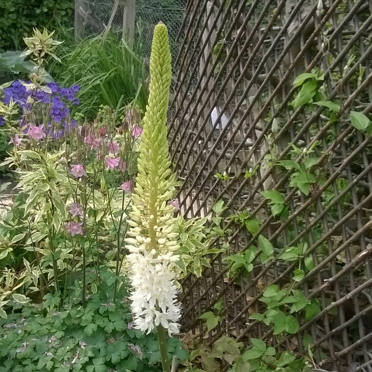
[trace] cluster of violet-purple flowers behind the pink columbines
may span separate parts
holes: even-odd
[[[37,91],[27,90],[21,82],[14,81],[12,85],[4,89],[2,101],[9,104],[12,99],[20,107],[21,114],[24,114],[26,110],[31,110],[31,104],[27,103],[28,98],[34,100],[33,107],[35,108],[40,107],[40,105],[47,105],[50,122],[41,124],[45,125],[44,130],[47,135],[58,139],[64,137],[66,129],[77,125],[74,120],[69,119],[69,106],[80,104],[80,101],[76,98],[80,86],[72,85],[70,88],[61,88],[57,83],[49,83],[47,87],[51,90],[51,93],[41,89]],[[19,124],[21,126],[25,124],[21,118]],[[0,117],[0,125],[4,125],[4,118],[2,117]],[[28,129],[27,126],[25,132],[28,132]]]

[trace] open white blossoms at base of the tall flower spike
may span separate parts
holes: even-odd
[[[128,240],[133,243],[131,238]],[[159,254],[154,249],[139,252],[141,249],[133,245],[127,248],[131,251],[127,260],[133,288],[129,298],[132,301],[134,328],[150,333],[161,324],[170,336],[179,333],[180,324],[177,320],[180,317],[180,305],[172,270],[179,257],[172,252]]]

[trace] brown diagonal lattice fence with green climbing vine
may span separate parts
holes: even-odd
[[[188,216],[227,207],[214,239],[223,252],[182,283],[193,338],[260,337],[303,355],[307,337],[334,369],[371,363],[371,10],[370,0],[189,1],[170,110],[180,205]],[[247,266],[234,271],[237,257]],[[275,337],[254,316],[268,288],[305,295],[295,334]],[[199,316],[219,301],[207,332]]]

